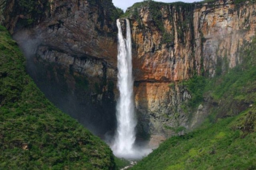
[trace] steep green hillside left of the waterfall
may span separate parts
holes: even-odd
[[[0,26],[0,169],[115,169],[110,148],[53,106]]]

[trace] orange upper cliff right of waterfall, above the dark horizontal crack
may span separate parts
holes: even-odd
[[[159,6],[165,32],[154,24],[147,5],[137,9],[139,19],[131,18],[136,80],[187,80],[203,69],[213,77],[217,58],[227,58],[230,68],[236,66],[242,61],[238,50],[255,36],[255,4],[236,6],[228,0]]]

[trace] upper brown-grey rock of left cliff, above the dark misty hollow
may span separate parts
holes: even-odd
[[[112,1],[45,0],[25,4],[9,0],[3,1],[1,9],[4,2],[7,5],[2,23],[21,46],[29,39],[43,60],[72,66],[75,72],[90,77],[102,77],[106,64],[108,76],[116,79],[112,74],[116,69],[117,12]]]

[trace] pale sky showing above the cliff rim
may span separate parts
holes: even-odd
[[[143,0],[113,0],[113,4],[116,7],[119,7],[126,11],[127,7],[132,7],[132,4],[135,4],[136,2],[143,1]],[[202,0],[154,0],[154,1],[162,1],[162,2],[175,2],[175,1],[184,1],[184,2],[189,2],[192,3],[194,1],[202,1]]]

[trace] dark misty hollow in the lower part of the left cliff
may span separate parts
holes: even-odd
[[[45,40],[41,31],[24,29],[15,32],[12,38],[18,43],[26,57],[26,72],[48,100],[102,139],[106,133],[116,129],[114,95],[110,96],[106,92],[102,95],[102,102],[92,104],[91,90],[89,90],[91,87],[84,88],[77,85],[79,82],[90,81],[92,78],[89,79],[85,75],[81,75],[80,77],[83,78],[76,82],[77,80],[72,74],[75,72],[74,69],[69,67],[69,72],[67,72],[58,61],[49,61],[48,53],[45,53],[45,56],[40,55],[39,47],[48,47],[44,44]],[[54,47],[50,49],[51,51],[56,50]],[[61,56],[58,57],[61,58]],[[74,86],[70,86],[70,82]],[[93,87],[95,87],[94,84]]]

